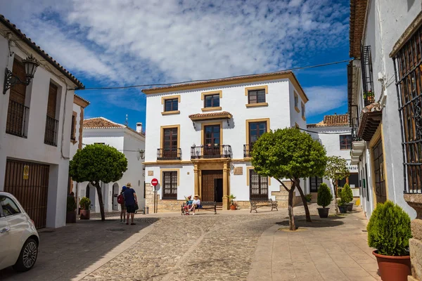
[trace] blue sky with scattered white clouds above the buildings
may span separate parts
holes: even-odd
[[[0,11],[87,88],[347,60],[349,1],[13,0]],[[307,122],[347,112],[346,64],[298,70]],[[86,117],[145,124],[141,89],[77,91]]]

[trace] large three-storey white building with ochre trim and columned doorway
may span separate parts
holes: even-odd
[[[269,129],[306,128],[305,95],[293,72],[144,89],[146,93],[146,204],[153,207],[158,179],[158,211],[179,210],[185,196],[228,207],[251,198],[285,195],[274,178],[254,173],[250,148]],[[297,193],[298,195],[298,193]],[[284,196],[285,197],[285,196]],[[287,201],[287,200],[286,200]]]

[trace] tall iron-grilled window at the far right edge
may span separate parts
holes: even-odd
[[[402,127],[404,192],[422,193],[422,27],[393,57]]]

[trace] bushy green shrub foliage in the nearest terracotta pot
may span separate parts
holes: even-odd
[[[385,256],[407,256],[411,238],[410,217],[397,204],[379,203],[373,210],[368,226],[369,247]]]

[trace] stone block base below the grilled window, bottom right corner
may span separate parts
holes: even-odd
[[[411,235],[409,240],[411,274],[407,280],[422,280],[422,194],[405,194],[404,200],[415,209],[416,218],[411,221]]]

